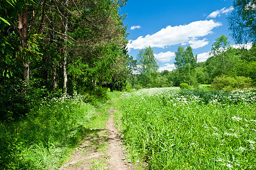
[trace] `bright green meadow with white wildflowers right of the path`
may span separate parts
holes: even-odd
[[[123,138],[150,169],[256,169],[255,100],[255,90],[127,93]]]

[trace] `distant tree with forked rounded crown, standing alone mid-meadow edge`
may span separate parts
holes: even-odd
[[[183,82],[188,82],[190,86],[197,56],[193,56],[191,46],[187,46],[185,50],[183,46],[179,46],[175,55],[175,67],[181,74],[183,74]]]

